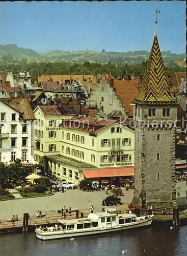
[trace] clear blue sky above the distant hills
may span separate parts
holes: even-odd
[[[0,44],[35,51],[185,52],[185,1],[1,2]]]

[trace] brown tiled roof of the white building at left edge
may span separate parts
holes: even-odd
[[[20,112],[24,120],[34,120],[35,116],[29,100],[26,98],[2,98],[0,99],[12,109]]]

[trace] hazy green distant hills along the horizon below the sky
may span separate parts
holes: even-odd
[[[36,52],[32,49],[20,48],[17,45],[0,45],[0,54],[11,55],[14,58],[35,59],[41,61],[67,61],[67,62],[108,62],[119,63],[125,62],[128,64],[142,63],[149,57],[148,51],[131,51],[131,52],[106,52],[104,49],[101,52],[94,52],[91,50],[83,51],[47,51]],[[171,51],[164,51],[162,53],[165,65],[174,65],[175,60],[183,60],[185,54],[175,54]]]

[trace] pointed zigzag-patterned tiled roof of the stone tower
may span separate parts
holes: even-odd
[[[157,35],[154,36],[147,69],[135,102],[140,104],[175,103],[171,97]]]

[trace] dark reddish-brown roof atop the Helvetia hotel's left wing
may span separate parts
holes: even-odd
[[[80,105],[40,105],[40,109],[45,116],[56,116],[56,115],[79,115]],[[88,114],[88,110],[84,105],[81,105],[81,113]]]

